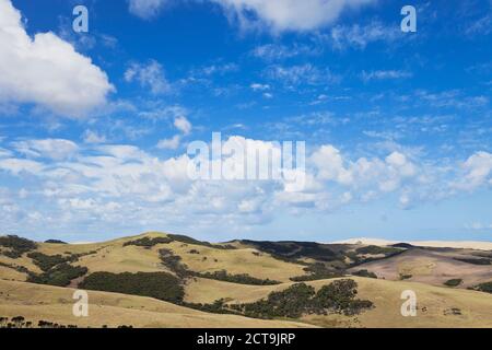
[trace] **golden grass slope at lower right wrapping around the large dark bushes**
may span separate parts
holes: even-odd
[[[352,278],[352,277],[351,277]],[[492,295],[468,290],[453,290],[407,281],[386,281],[352,278],[359,283],[360,299],[370,300],[375,307],[353,317],[343,315],[304,316],[301,320],[320,327],[492,327]],[[316,289],[333,280],[307,282]],[[225,299],[229,303],[250,303],[263,299],[280,285],[251,287],[221,281],[197,279],[186,288],[186,300],[210,303]],[[412,290],[418,298],[418,316],[403,317],[400,313],[401,292]],[[452,315],[458,308],[461,315]]]

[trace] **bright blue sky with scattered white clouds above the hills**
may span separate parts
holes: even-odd
[[[0,233],[490,241],[491,57],[490,0],[0,0]],[[305,186],[191,179],[213,132]]]

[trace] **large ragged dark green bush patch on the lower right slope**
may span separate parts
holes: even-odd
[[[255,318],[298,318],[304,314],[328,313],[354,315],[373,307],[370,301],[355,300],[356,288],[353,280],[337,280],[316,293],[313,287],[296,283],[283,291],[270,293],[266,300],[231,307]]]

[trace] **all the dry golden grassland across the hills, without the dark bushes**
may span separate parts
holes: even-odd
[[[376,254],[378,249],[363,244],[292,242],[272,245],[244,241],[232,242],[225,248],[192,241],[173,241],[147,247],[127,244],[143,237],[166,236],[163,233],[147,233],[104,243],[38,243],[33,252],[63,257],[77,255],[78,259],[70,264],[86,267],[86,276],[99,271],[167,272],[177,276],[161,260],[160,250],[168,249],[179,257],[179,262],[186,265],[190,272],[225,270],[230,275],[248,275],[281,282],[277,285],[248,285],[197,278],[192,273],[177,276],[183,279],[185,302],[202,304],[211,304],[220,299],[227,304],[266,299],[269,293],[292,285],[293,277],[306,276],[306,264],[326,264],[328,268],[338,269],[345,276],[366,269],[375,272],[379,279],[350,278],[359,284],[358,298],[373,302],[375,307],[356,316],[303,315],[298,319],[266,322],[238,315],[204,313],[150,298],[90,291],[90,317],[77,318],[72,315],[73,289],[70,288],[77,288],[85,276],[72,280],[70,288],[25,283],[28,276],[26,270],[30,273],[42,272],[28,253],[19,258],[0,253],[0,316],[21,315],[33,323],[44,319],[80,327],[492,327],[492,294],[466,289],[491,281],[492,266],[459,260],[490,259],[491,252],[410,247],[396,255],[385,255]],[[375,253],[367,256],[362,254],[364,249],[359,250],[361,247]],[[362,253],[356,255],[358,250]],[[364,260],[367,258],[370,260]],[[359,261],[356,266],[354,261]],[[401,276],[408,279],[401,280]],[[444,285],[450,279],[461,279],[462,283],[454,288]],[[306,283],[319,289],[331,281],[314,280]],[[400,295],[405,290],[417,293],[417,317],[401,316],[403,301]]]

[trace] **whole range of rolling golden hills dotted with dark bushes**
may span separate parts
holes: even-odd
[[[492,327],[492,294],[469,290],[488,291],[491,261],[490,250],[411,244],[1,236],[0,316],[79,327]],[[89,291],[87,318],[72,315],[77,288]],[[400,314],[405,290],[417,293],[417,317]],[[282,314],[283,302],[272,304],[282,298],[298,312]]]

